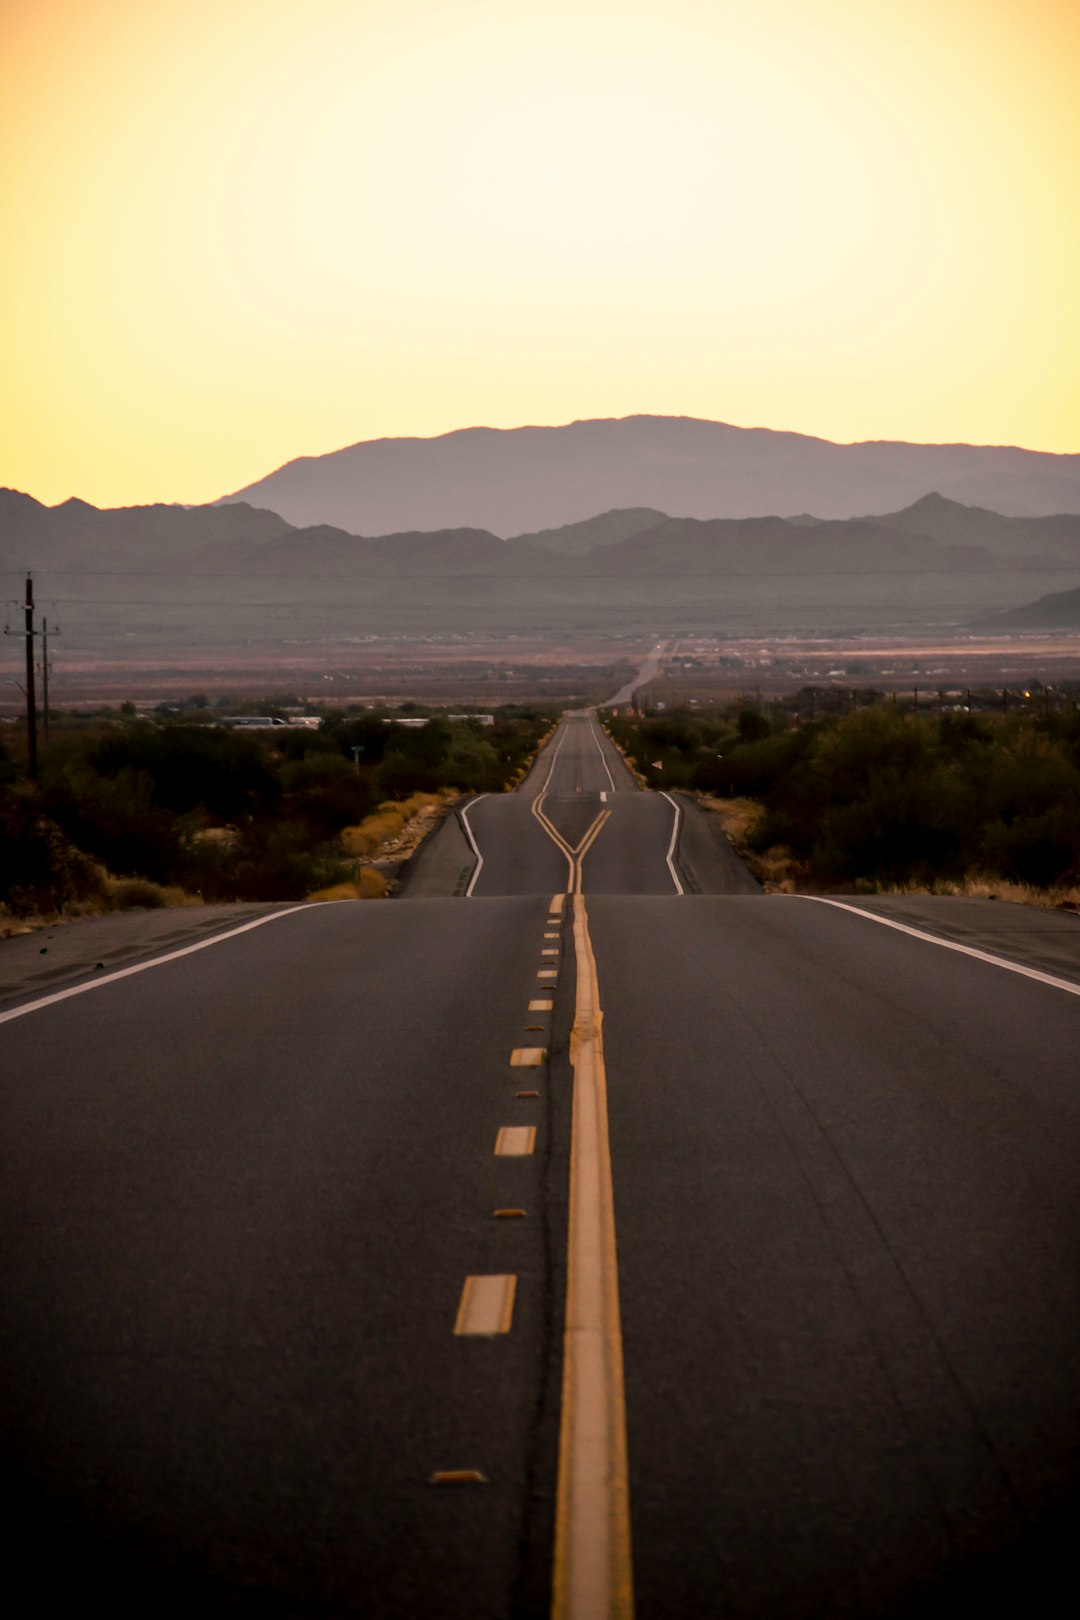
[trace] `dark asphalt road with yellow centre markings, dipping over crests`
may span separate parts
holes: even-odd
[[[575,716],[403,899],[125,925],[0,943],[28,1609],[1067,1602],[1080,922],[764,896]]]

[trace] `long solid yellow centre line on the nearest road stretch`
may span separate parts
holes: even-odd
[[[630,1620],[630,1477],[607,1079],[596,957],[580,893],[573,941],[578,978],[552,1620]]]

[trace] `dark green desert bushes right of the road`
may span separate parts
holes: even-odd
[[[727,805],[763,875],[813,888],[1080,881],[1080,718],[874,703],[792,724],[755,708],[612,718],[653,786]]]

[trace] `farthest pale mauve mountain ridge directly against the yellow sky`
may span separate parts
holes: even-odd
[[[484,528],[531,535],[596,512],[677,517],[895,512],[931,489],[1007,515],[1080,510],[1080,455],[972,444],[832,444],[688,416],[563,428],[465,428],[436,439],[371,439],[301,457],[225,501],[296,526],[351,533]]]

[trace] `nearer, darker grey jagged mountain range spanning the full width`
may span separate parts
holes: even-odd
[[[500,539],[473,526],[358,536],[246,502],[99,510],[0,491],[5,588],[86,645],[458,633],[787,633],[984,620],[1080,580],[1080,515],[929,494],[852,518],[620,507]],[[131,651],[134,651],[134,645]]]

